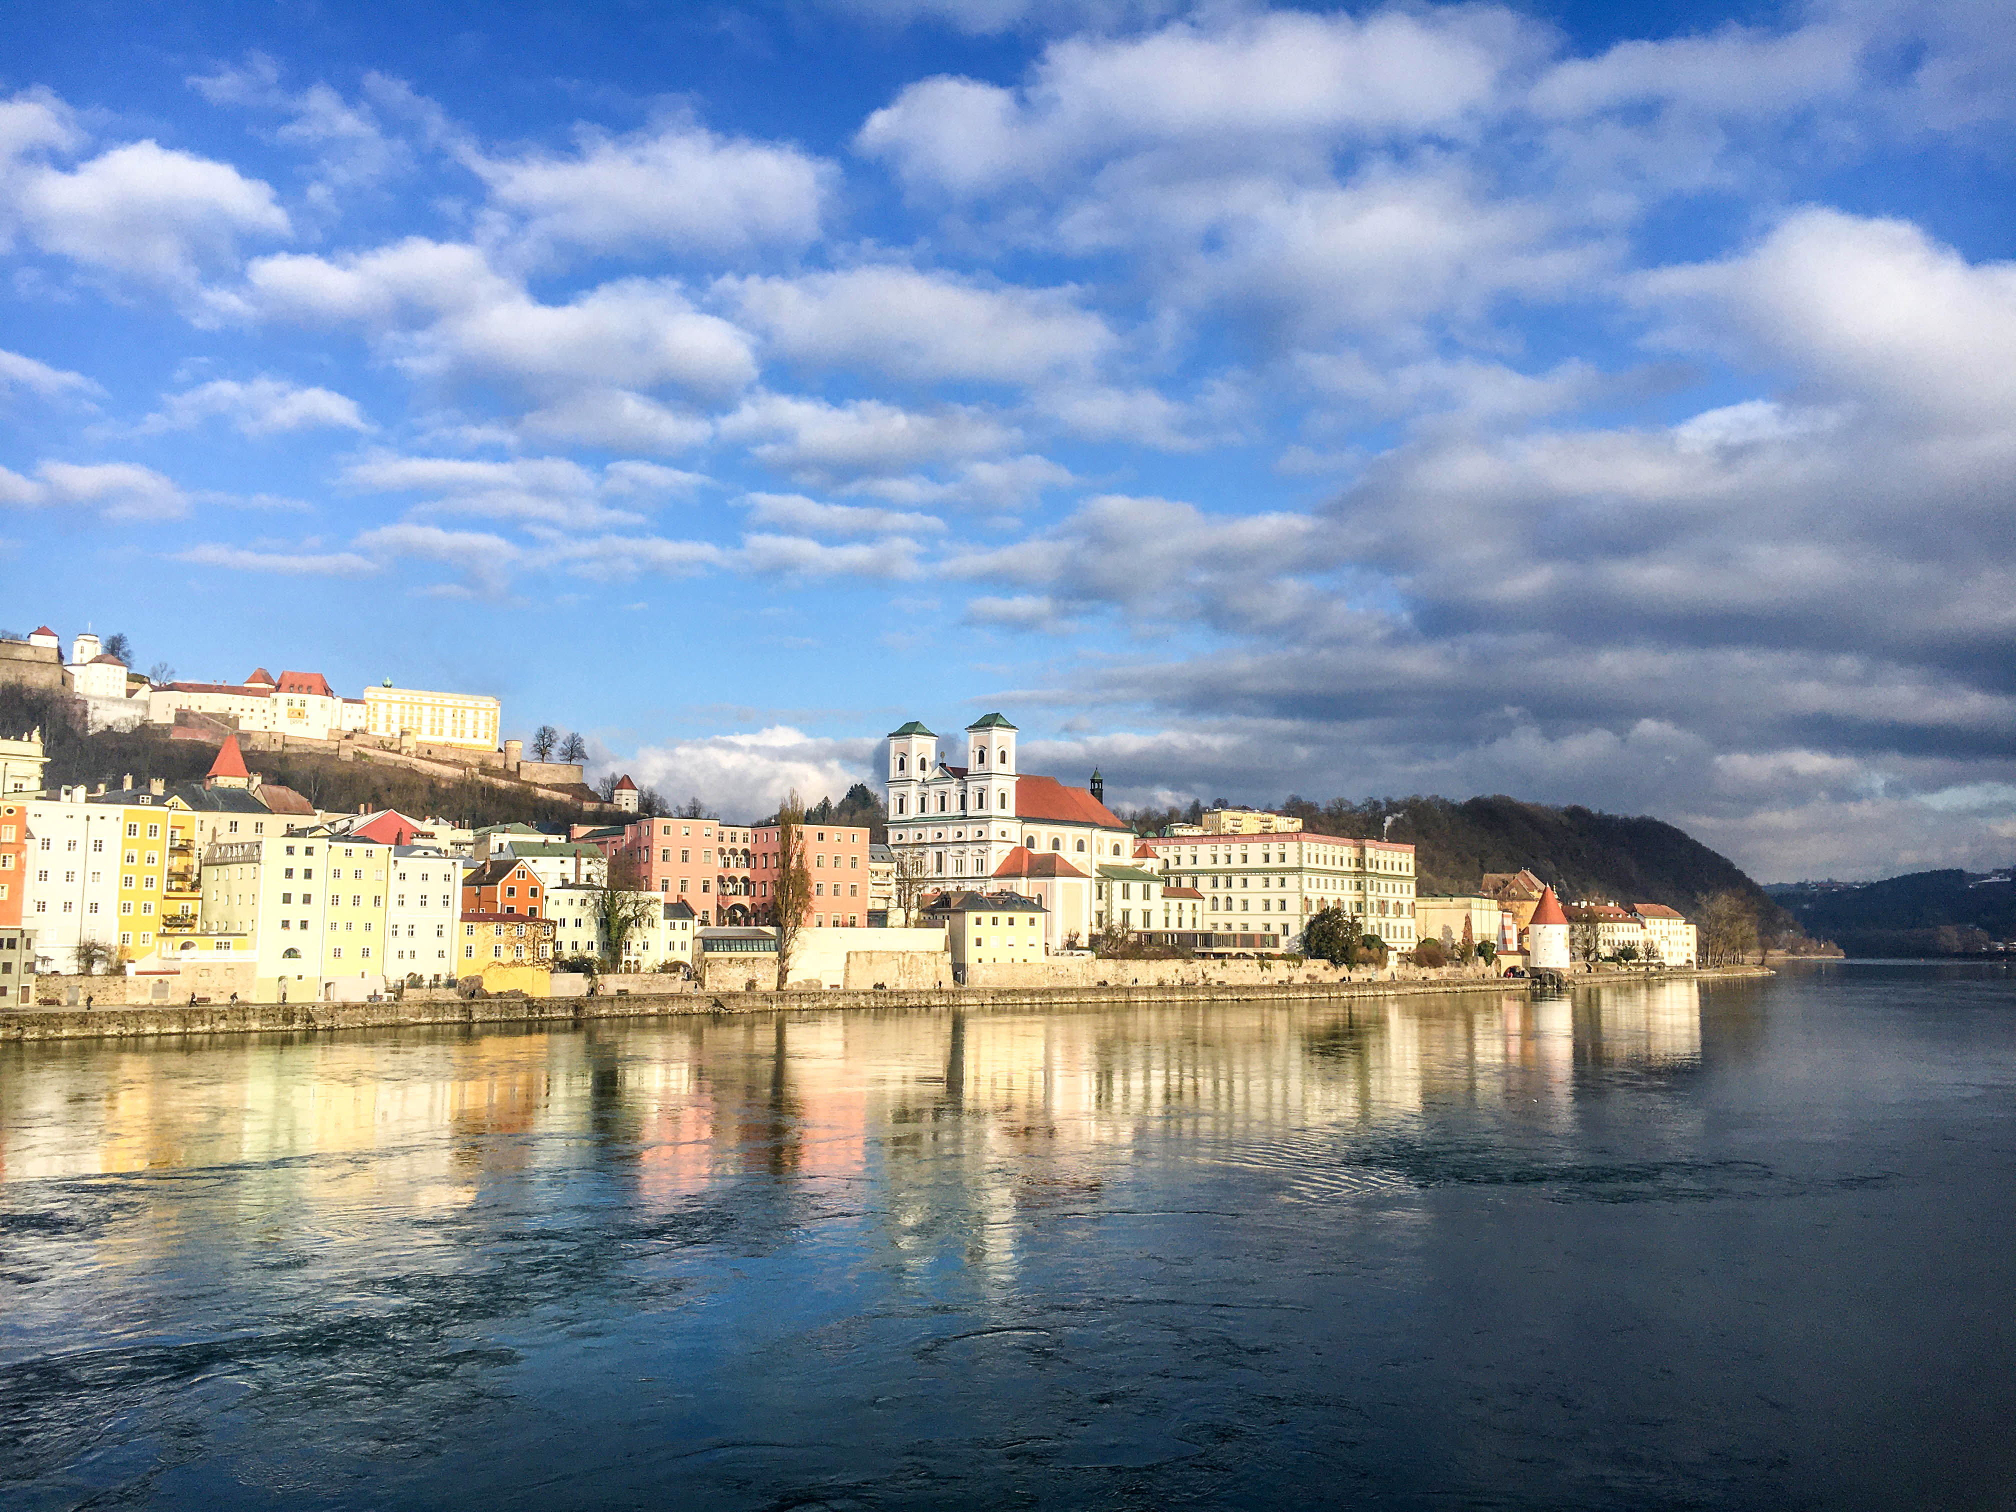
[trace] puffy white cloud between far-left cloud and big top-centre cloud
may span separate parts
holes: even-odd
[[[689,123],[629,137],[581,129],[571,155],[474,157],[494,206],[532,248],[663,254],[804,246],[831,169],[814,157]]]

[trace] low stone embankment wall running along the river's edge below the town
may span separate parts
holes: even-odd
[[[1746,978],[1772,976],[1760,966],[1726,966],[1714,972],[1599,972],[1585,984],[1627,986],[1635,980]],[[1524,992],[1526,982],[1504,978],[1443,980],[1335,980],[1260,982],[1252,986],[1189,982],[1105,988],[952,988],[925,992],[696,992],[685,990],[595,998],[454,998],[411,992],[403,1002],[357,1004],[200,1004],[196,1008],[81,1008],[0,1010],[4,1040],[137,1038],[155,1034],[264,1034],[343,1028],[423,1028],[472,1024],[581,1024],[593,1020],[655,1018],[669,1014],[766,1014],[778,1010],[831,1008],[962,1008],[968,1012],[1044,1012],[1103,1004],[1163,1002],[1325,1002],[1381,998],[1395,994]]]

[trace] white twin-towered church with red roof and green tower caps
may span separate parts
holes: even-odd
[[[911,720],[889,732],[883,772],[889,849],[897,865],[931,887],[974,887],[974,879],[992,877],[1020,883],[1036,871],[1058,883],[1089,881],[1099,867],[1133,857],[1133,831],[1107,808],[1099,772],[1089,788],[1070,788],[1054,776],[1018,770],[1016,728],[1000,714],[966,726],[964,748],[952,752],[939,750],[937,736]],[[1056,901],[1044,901],[1052,909],[1052,950],[1070,935],[1091,939],[1089,885],[1060,887]]]

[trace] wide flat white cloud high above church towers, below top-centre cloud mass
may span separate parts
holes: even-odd
[[[714,292],[778,355],[808,367],[1032,383],[1083,373],[1115,349],[1107,323],[1081,308],[1073,288],[992,288],[885,264],[798,278],[724,278]]]

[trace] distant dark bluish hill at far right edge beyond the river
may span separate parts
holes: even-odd
[[[1873,883],[1774,883],[1768,891],[1808,933],[1851,956],[1962,956],[2016,939],[2010,871],[1913,871]]]

